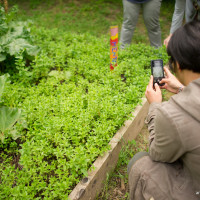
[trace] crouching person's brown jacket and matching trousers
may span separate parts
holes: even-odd
[[[152,103],[146,122],[150,156],[131,169],[130,199],[200,199],[200,79]]]

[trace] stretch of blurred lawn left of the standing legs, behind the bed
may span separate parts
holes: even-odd
[[[33,3],[20,1],[18,5],[21,19],[29,16],[39,26],[76,33],[89,32],[96,36],[108,34],[110,25],[122,21],[121,2],[52,0],[34,4],[35,6]]]

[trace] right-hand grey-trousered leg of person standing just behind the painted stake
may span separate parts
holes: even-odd
[[[146,25],[151,46],[162,46],[160,30],[161,0],[151,0],[143,4],[143,18]]]

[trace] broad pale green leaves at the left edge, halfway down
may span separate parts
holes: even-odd
[[[5,87],[7,76],[0,76],[0,101],[1,96]],[[19,137],[17,135],[16,130],[11,128],[19,119],[21,114],[21,110],[17,108],[9,108],[5,106],[0,107],[0,139],[4,142],[4,139],[11,135],[12,138],[15,140]],[[7,132],[6,132],[7,131]]]

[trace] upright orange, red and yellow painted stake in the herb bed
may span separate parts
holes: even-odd
[[[118,26],[111,26],[110,33],[110,70],[114,70],[118,59]]]

